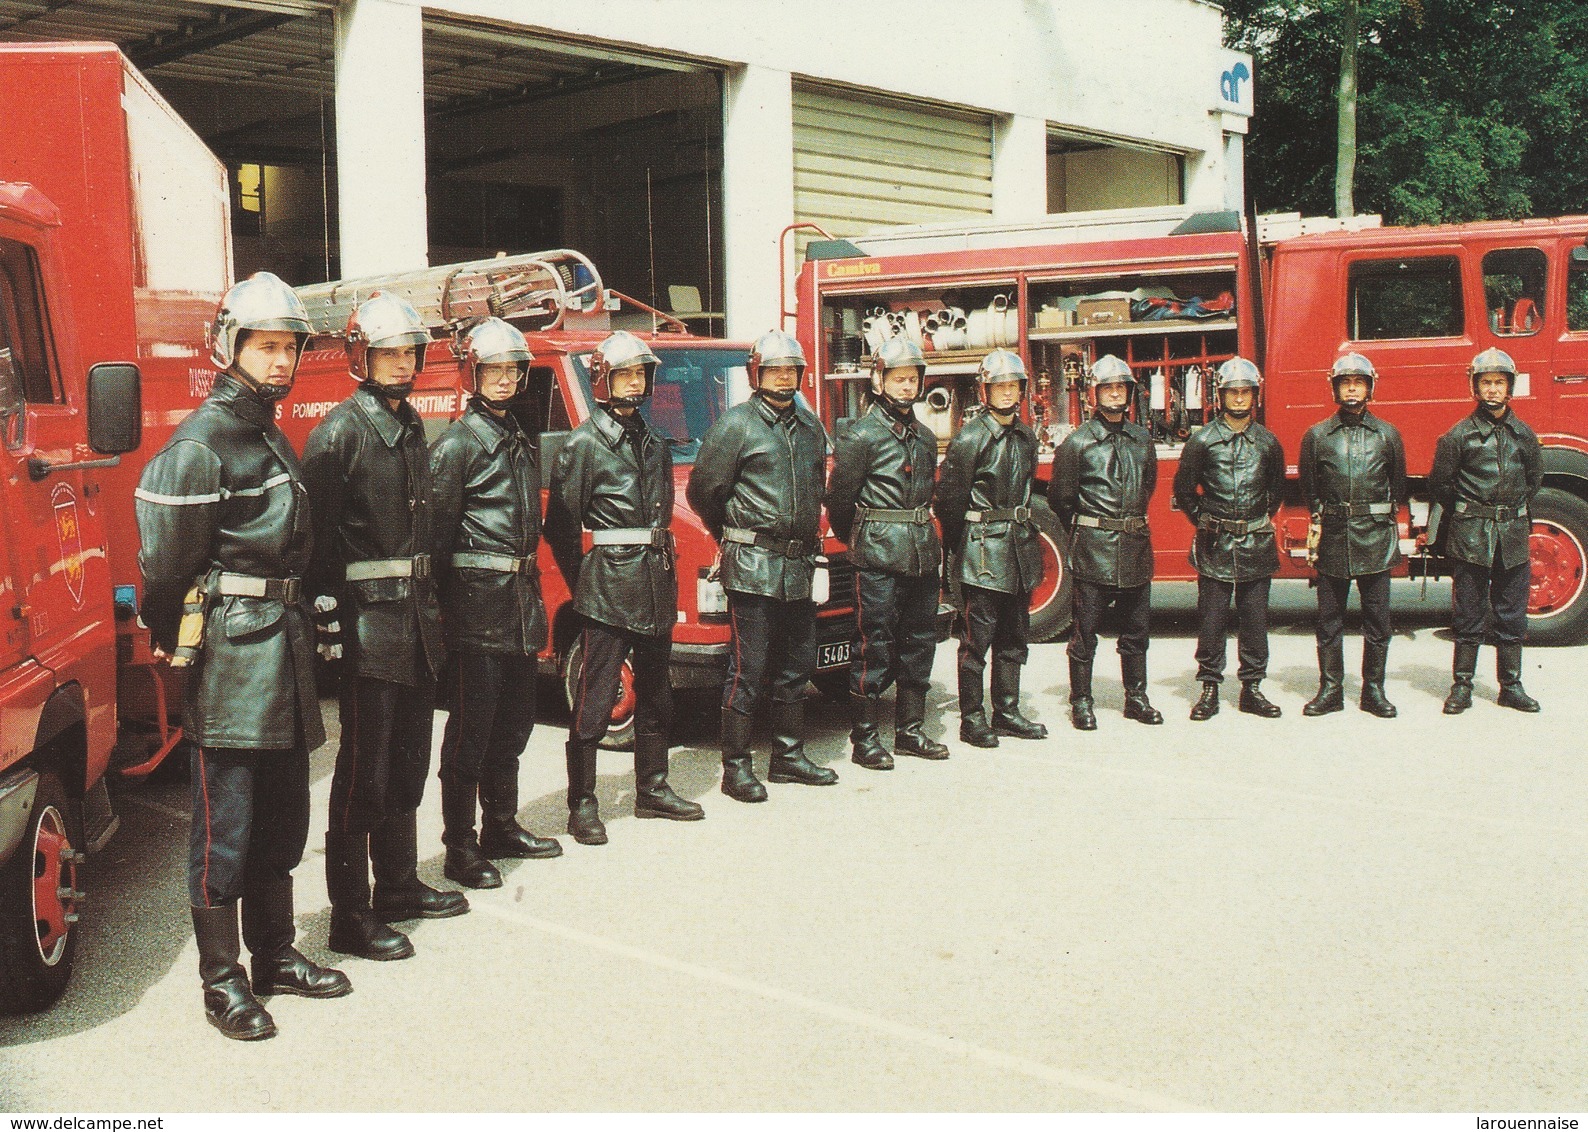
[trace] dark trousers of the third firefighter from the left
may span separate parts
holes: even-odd
[[[481,780],[518,783],[518,757],[535,730],[537,657],[521,653],[453,654],[441,737],[441,783],[465,792]]]

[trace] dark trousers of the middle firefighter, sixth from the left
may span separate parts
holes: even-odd
[[[854,572],[853,695],[875,699],[892,683],[926,694],[937,651],[939,591],[935,573],[910,578],[885,570]]]

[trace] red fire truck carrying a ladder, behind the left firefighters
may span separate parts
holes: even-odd
[[[567,249],[299,287],[316,338],[299,367],[292,395],[279,410],[281,427],[299,449],[313,425],[353,389],[340,338],[353,310],[376,291],[411,302],[437,335],[410,397],[426,419],[430,440],[457,419],[468,400],[453,337],[486,314],[505,318],[524,332],[534,362],[529,386],[511,411],[540,440],[543,475],[561,437],[596,408],[588,362],[602,338],[621,325],[649,343],[661,365],[642,413],[653,429],[672,438],[676,483],[678,626],[672,684],[721,687],[727,672],[727,600],[713,572],[716,543],[684,502],[684,481],[705,430],[726,408],[750,395],[748,346],[689,333],[678,319],[603,287],[596,265]],[[834,551],[838,546],[832,543]],[[826,673],[843,672],[848,660],[850,586],[842,578],[831,579],[832,572],[843,570],[842,562],[824,562],[816,572],[823,680]],[[542,584],[551,624],[542,673],[559,676],[572,702],[583,664],[580,635],[569,586],[549,556],[542,565]],[[634,678],[626,664],[605,745],[626,748],[632,738]]]

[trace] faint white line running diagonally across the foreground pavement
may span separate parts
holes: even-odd
[[[470,894],[473,895],[473,894]],[[1018,1054],[1002,1053],[1000,1049],[988,1049],[986,1046],[978,1046],[961,1038],[951,1038],[942,1034],[932,1034],[931,1030],[923,1030],[915,1026],[905,1026],[904,1022],[894,1022],[888,1018],[880,1018],[877,1015],[869,1015],[862,1010],[854,1010],[851,1007],[840,1007],[832,1002],[823,1002],[821,999],[811,999],[796,991],[784,991],[783,988],[767,986],[764,983],[756,983],[748,978],[740,978],[738,975],[729,975],[727,972],[711,970],[710,967],[700,967],[699,964],[683,962],[673,959],[672,956],[664,956],[656,951],[646,951],[643,948],[634,948],[627,943],[618,943],[616,940],[608,940],[600,935],[592,935],[589,932],[581,932],[576,927],[569,927],[567,924],[557,924],[549,919],[542,919],[540,916],[527,916],[510,908],[499,907],[494,900],[475,900],[475,911],[483,911],[488,916],[495,916],[497,919],[511,921],[515,924],[522,924],[532,927],[546,935],[556,935],[564,940],[581,943],[588,948],[596,948],[597,951],[605,951],[613,956],[621,956],[624,959],[632,959],[635,962],[649,964],[651,967],[661,967],[662,970],[670,970],[678,975],[688,975],[689,978],[700,980],[702,983],[716,983],[718,986],[729,988],[732,991],[742,991],[745,994],[754,994],[761,999],[770,1002],[781,1002],[788,1007],[796,1007],[810,1015],[821,1015],[850,1026],[858,1026],[869,1030],[877,1030],[878,1034],[886,1034],[904,1042],[913,1042],[915,1045],[927,1046],[929,1049],[939,1049],[942,1053],[954,1054],[958,1057],[969,1057],[972,1061],[980,1061],[992,1068],[1008,1070],[1012,1073],[1021,1073],[1024,1076],[1037,1078],[1039,1081],[1046,1081],[1050,1084],[1059,1084],[1067,1089],[1075,1089],[1078,1092],[1088,1092],[1105,1100],[1112,1100],[1121,1105],[1129,1105],[1142,1111],[1158,1111],[1158,1113],[1186,1113],[1186,1111],[1205,1111],[1177,1097],[1169,1097],[1161,1092],[1151,1092],[1147,1089],[1132,1089],[1124,1084],[1115,1084],[1113,1081],[1104,1081],[1096,1076],[1088,1076],[1085,1073],[1075,1073],[1066,1068],[1054,1068],[1053,1065],[1045,1065],[1040,1061],[1032,1061],[1031,1057],[1021,1057]]]

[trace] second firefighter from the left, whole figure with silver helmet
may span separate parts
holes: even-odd
[[[330,946],[365,959],[413,954],[391,922],[468,911],[461,892],[418,876],[418,810],[445,659],[430,568],[430,454],[407,400],[429,341],[405,300],[365,300],[345,343],[359,387],[303,448],[314,505],[310,591],[319,608],[333,606],[348,654],[326,832]]]

